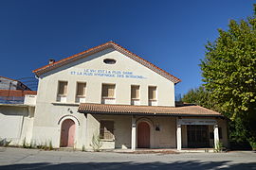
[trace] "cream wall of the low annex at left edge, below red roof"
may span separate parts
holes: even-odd
[[[0,102],[0,140],[7,140],[12,145],[30,143],[35,101],[35,94],[26,94],[23,104]]]

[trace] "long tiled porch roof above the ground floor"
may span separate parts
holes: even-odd
[[[222,117],[219,112],[194,105],[181,107],[162,106],[133,106],[133,105],[106,105],[81,103],[78,109],[81,113],[100,113],[118,115],[170,115],[170,116],[214,116]]]

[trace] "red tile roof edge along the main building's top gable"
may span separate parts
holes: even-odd
[[[169,74],[168,72],[160,69],[159,67],[155,66],[153,63],[149,62],[148,60],[138,57],[136,54],[134,54],[131,51],[127,50],[126,48],[120,46],[116,42],[105,42],[105,43],[103,43],[99,46],[96,46],[96,47],[90,48],[86,51],[83,51],[82,53],[76,54],[74,56],[71,56],[71,57],[68,57],[68,58],[65,58],[65,59],[61,59],[61,60],[53,62],[51,64],[47,64],[44,67],[33,70],[33,73],[35,73],[37,76],[40,76],[40,75],[42,75],[42,74],[44,74],[44,73],[46,73],[50,70],[61,67],[61,66],[65,65],[69,62],[72,62],[72,61],[75,61],[75,60],[78,60],[78,59],[82,59],[82,58],[86,58],[86,57],[88,57],[92,54],[95,54],[95,53],[100,52],[100,51],[102,51],[104,49],[107,49],[107,48],[114,48],[114,49],[118,50],[120,53],[124,54],[125,56],[129,57],[130,59],[136,60],[140,64],[152,69],[153,71],[155,71],[155,73],[166,77],[167,79],[173,81],[174,83],[178,83],[178,82],[181,81],[179,78],[177,78],[177,77]]]

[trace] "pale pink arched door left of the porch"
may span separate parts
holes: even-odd
[[[61,147],[73,147],[76,124],[71,119],[64,120],[61,132]]]

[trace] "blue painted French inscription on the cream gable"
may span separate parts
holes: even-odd
[[[98,70],[98,69],[76,69],[70,71],[70,75],[73,76],[105,76],[105,77],[119,77],[119,78],[147,78],[145,76],[137,75],[131,71],[119,71],[119,70]]]

